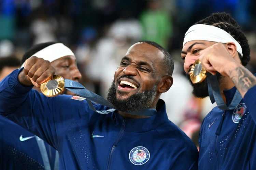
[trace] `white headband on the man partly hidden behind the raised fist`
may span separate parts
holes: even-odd
[[[62,43],[56,43],[53,45],[49,45],[41,49],[40,51],[34,53],[32,56],[36,56],[39,58],[43,58],[44,60],[48,60],[49,62],[53,62],[64,56],[74,56],[74,53]],[[30,56],[30,57],[32,57]],[[22,64],[21,67],[24,67],[25,62]]]

